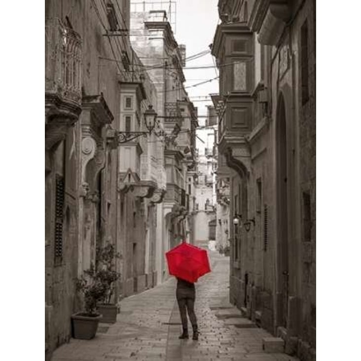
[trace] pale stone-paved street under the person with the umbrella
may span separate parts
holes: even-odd
[[[262,350],[262,338],[271,335],[241,317],[228,302],[229,258],[212,251],[209,255],[212,272],[196,284],[199,341],[178,339],[181,326],[176,281],[171,278],[123,299],[115,324],[99,324],[90,341],[71,339],[55,350],[52,361],[297,360]]]

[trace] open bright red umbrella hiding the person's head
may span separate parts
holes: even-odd
[[[169,274],[188,282],[211,272],[206,250],[182,242],[166,253]]]

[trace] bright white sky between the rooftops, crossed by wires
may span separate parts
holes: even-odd
[[[204,50],[210,50],[209,45],[213,42],[218,24],[218,0],[177,0],[176,2],[177,24],[175,38],[178,44],[185,44],[186,57]],[[215,59],[209,53],[198,59],[186,62],[186,68],[214,64]],[[217,68],[184,69],[183,72],[186,79],[185,87],[218,76]],[[206,105],[213,105],[212,101],[200,102],[199,100],[205,100],[205,96],[209,96],[210,93],[218,93],[218,90],[218,79],[186,89],[190,100],[198,108],[199,115],[206,115]],[[198,121],[199,125],[204,125],[205,118],[200,117]],[[197,135],[204,141],[207,139],[207,133],[209,133],[207,130],[197,131]],[[200,153],[203,153],[205,145],[197,139],[196,146],[199,148]]]

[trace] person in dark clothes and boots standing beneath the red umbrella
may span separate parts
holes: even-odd
[[[180,339],[189,338],[188,335],[188,321],[187,321],[187,312],[189,321],[193,328],[193,340],[198,340],[198,326],[197,318],[194,313],[194,301],[195,301],[195,287],[194,283],[182,280],[177,277],[177,292],[176,297],[179,306],[180,320],[182,322],[183,333],[179,336]]]

